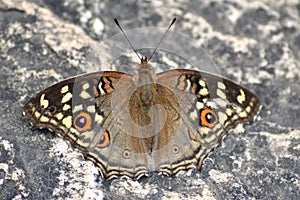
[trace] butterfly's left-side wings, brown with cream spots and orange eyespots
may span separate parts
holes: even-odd
[[[149,159],[142,140],[129,134],[139,132],[124,125],[134,89],[133,77],[124,73],[87,74],[41,91],[24,106],[24,114],[34,126],[80,149],[104,178],[138,178],[148,173]]]

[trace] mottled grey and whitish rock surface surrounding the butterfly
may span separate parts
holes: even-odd
[[[0,199],[299,199],[299,13],[293,0],[0,1]],[[201,172],[103,181],[64,140],[29,126],[22,107],[30,97],[64,78],[103,70],[120,56],[100,45],[119,33],[114,17],[128,30],[167,27],[174,16],[173,29],[195,42],[188,48],[180,40],[169,43],[193,64],[201,62],[193,56],[202,45],[220,74],[253,91],[264,106],[257,122],[223,140]],[[119,57],[108,68],[123,63],[130,71],[127,61]],[[163,61],[186,67],[180,59]]]

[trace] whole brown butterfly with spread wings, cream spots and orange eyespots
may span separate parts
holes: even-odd
[[[39,92],[24,115],[80,150],[104,179],[173,176],[201,169],[228,132],[253,122],[258,98],[214,74],[174,69],[158,74],[141,58],[136,75],[103,71]]]

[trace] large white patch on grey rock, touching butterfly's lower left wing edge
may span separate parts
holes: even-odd
[[[67,163],[64,167],[68,167],[68,170],[59,170],[59,184],[54,188],[53,195],[68,193],[70,199],[103,199],[103,192],[99,189],[100,183],[96,182],[100,176],[98,168],[91,161],[84,160],[80,152],[75,151],[66,141],[57,138],[50,156]]]

